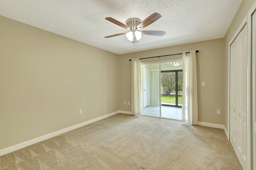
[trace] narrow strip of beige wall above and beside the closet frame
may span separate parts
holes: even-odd
[[[224,38],[224,63],[226,65],[225,71],[224,71],[224,76],[225,76],[225,85],[224,85],[224,97],[225,97],[225,106],[226,106],[226,114],[224,115],[224,125],[226,129],[228,129],[228,45],[229,42],[231,41],[232,37],[236,33],[237,29],[239,28],[240,24],[248,14],[250,8],[254,4],[255,0],[243,0],[237,13],[236,16],[234,17],[234,20],[232,21],[226,36]]]

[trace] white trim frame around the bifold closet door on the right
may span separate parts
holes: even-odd
[[[256,3],[254,3],[255,8],[256,8]],[[254,9],[255,9],[254,8]],[[250,12],[249,12],[250,13]],[[248,13],[248,14],[249,14]],[[248,15],[249,16],[249,15]],[[251,14],[250,14],[251,16]],[[251,169],[251,164],[252,164],[252,132],[251,132],[251,127],[252,127],[252,112],[251,112],[251,21],[252,18],[250,17],[245,17],[240,26],[238,27],[236,33],[234,33],[231,41],[228,43],[228,129],[224,129],[226,136],[228,138],[228,141],[230,141],[230,45],[232,42],[236,39],[236,36],[240,33],[242,28],[244,27],[245,24],[247,24],[247,163],[246,163],[246,170]]]

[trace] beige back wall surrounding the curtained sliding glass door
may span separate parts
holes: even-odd
[[[224,39],[189,43],[160,49],[152,49],[137,53],[120,55],[119,69],[121,83],[120,89],[120,110],[131,111],[130,106],[124,105],[124,101],[131,100],[131,62],[129,59],[136,57],[153,57],[181,53],[182,51],[199,50],[196,54],[197,78],[198,78],[198,121],[207,123],[224,124],[224,71],[226,65],[224,60]],[[161,57],[160,59],[145,59],[142,62],[164,61],[170,59],[181,59],[182,55]],[[202,87],[201,82],[206,82]],[[216,114],[216,110],[221,109],[221,115]]]

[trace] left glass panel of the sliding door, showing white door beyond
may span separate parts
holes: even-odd
[[[160,117],[160,64],[141,65],[142,115]]]

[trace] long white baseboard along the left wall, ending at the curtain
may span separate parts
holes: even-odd
[[[97,117],[95,119],[92,119],[92,120],[89,120],[89,121],[85,121],[83,123],[79,123],[77,125],[74,125],[74,126],[70,126],[70,127],[67,127],[65,129],[61,129],[59,131],[56,131],[56,132],[53,132],[53,133],[49,133],[47,135],[44,135],[44,136],[41,136],[41,137],[38,137],[38,138],[35,138],[35,139],[32,139],[32,140],[29,140],[29,141],[26,141],[26,142],[23,142],[23,143],[20,143],[20,144],[17,144],[17,145],[14,145],[12,147],[8,147],[8,148],[5,148],[5,149],[2,149],[0,150],[0,156],[4,155],[4,154],[8,154],[10,152],[14,152],[16,150],[19,150],[19,149],[22,149],[24,147],[28,147],[30,145],[33,145],[35,143],[38,143],[38,142],[41,142],[41,141],[44,141],[46,139],[50,139],[52,137],[55,137],[55,136],[58,136],[62,133],[66,133],[68,131],[72,131],[74,129],[77,129],[79,127],[82,127],[82,126],[85,126],[85,125],[88,125],[90,123],[93,123],[93,122],[96,122],[96,121],[99,121],[101,119],[105,119],[107,117],[110,117],[112,115],[115,115],[117,113],[125,113],[125,114],[129,114],[128,111],[115,111],[113,113],[109,113],[109,114],[106,114],[106,115],[103,115],[103,116],[100,116],[100,117]],[[130,113],[131,114],[131,113]]]

